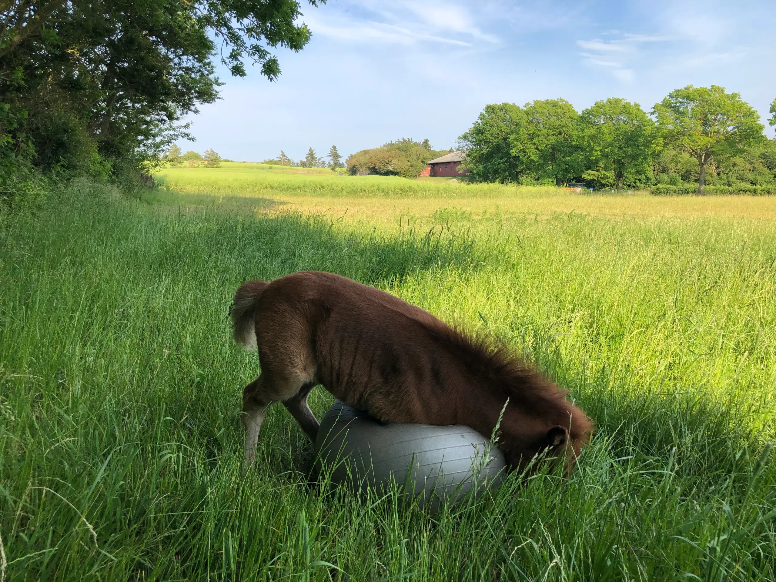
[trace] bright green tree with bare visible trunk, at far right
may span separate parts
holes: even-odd
[[[760,116],[739,93],[724,87],[687,87],[670,92],[653,113],[666,144],[691,154],[698,163],[698,194],[706,166],[742,154],[764,139]]]

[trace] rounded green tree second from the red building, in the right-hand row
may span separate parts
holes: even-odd
[[[511,154],[522,171],[563,185],[577,175],[579,165],[574,140],[577,111],[565,99],[537,99],[522,111],[510,138]]]

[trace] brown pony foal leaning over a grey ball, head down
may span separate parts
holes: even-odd
[[[584,412],[520,359],[340,275],[247,282],[230,317],[235,340],[257,347],[262,366],[243,391],[246,462],[273,402],[315,440],[307,395],[317,384],[386,423],[466,424],[490,436],[503,410],[498,447],[513,469],[542,452],[564,457],[570,469],[590,438]]]

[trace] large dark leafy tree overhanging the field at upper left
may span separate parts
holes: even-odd
[[[274,80],[270,50],[310,39],[300,16],[297,0],[5,0],[0,95],[16,118],[26,114],[17,133],[40,168],[88,171],[101,158],[137,167],[187,135],[183,116],[217,99],[217,47],[231,74],[244,76],[250,61]]]

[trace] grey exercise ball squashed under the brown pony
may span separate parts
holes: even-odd
[[[324,415],[315,450],[318,470],[333,483],[379,490],[393,478],[431,511],[442,499],[459,501],[475,481],[497,487],[504,476],[501,451],[473,428],[381,424],[340,400]]]

